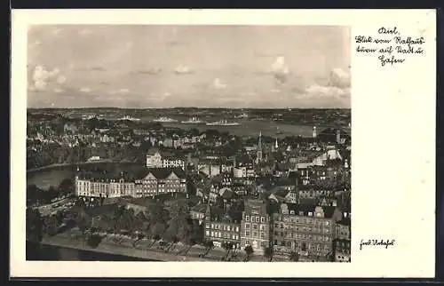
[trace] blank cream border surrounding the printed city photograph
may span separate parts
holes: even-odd
[[[53,277],[433,277],[435,11],[12,10],[11,275]],[[424,29],[425,56],[395,68],[352,59],[352,263],[25,261],[27,28],[33,24],[341,25]],[[413,35],[415,36],[415,35]],[[355,44],[352,45],[353,49]],[[361,238],[396,246],[359,250]]]

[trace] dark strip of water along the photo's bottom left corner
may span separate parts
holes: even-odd
[[[156,261],[152,259],[133,258],[89,250],[75,250],[67,247],[27,242],[27,260],[39,261]]]

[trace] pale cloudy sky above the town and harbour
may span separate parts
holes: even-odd
[[[350,28],[38,25],[28,107],[350,108]]]

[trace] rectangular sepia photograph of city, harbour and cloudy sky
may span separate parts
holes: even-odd
[[[27,260],[350,262],[347,33],[31,28]]]

